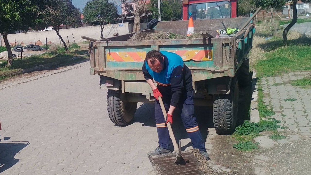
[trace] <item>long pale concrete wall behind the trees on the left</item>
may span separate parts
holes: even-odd
[[[107,24],[104,26],[103,35],[105,38],[113,37],[114,33],[119,33],[119,35],[124,35],[129,32],[132,32],[132,25],[128,23],[120,24]],[[87,41],[81,39],[81,35],[88,36],[94,39],[100,39],[100,26],[89,26],[89,27],[79,27],[73,29],[61,29],[59,34],[63,37],[63,40],[68,43]],[[73,37],[74,40],[73,40]],[[45,45],[45,37],[47,37],[47,43],[60,45],[59,37],[55,31],[37,31],[37,32],[28,32],[28,33],[18,33],[7,35],[9,43],[11,45],[28,45],[28,44],[37,44]],[[2,42],[4,45],[4,42]]]

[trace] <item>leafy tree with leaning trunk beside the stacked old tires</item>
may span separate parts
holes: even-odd
[[[47,9],[42,12],[45,16],[44,20],[47,25],[53,26],[56,34],[63,42],[66,52],[69,52],[66,42],[59,34],[59,26],[81,26],[80,10],[72,4],[71,0],[52,0],[51,2],[51,5],[47,6]]]

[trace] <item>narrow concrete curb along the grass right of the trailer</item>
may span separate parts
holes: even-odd
[[[252,101],[251,101],[251,112],[250,112],[250,122],[255,123],[259,122],[259,111],[258,111],[258,85],[257,85],[257,77],[256,71],[253,70],[253,77],[252,77]]]

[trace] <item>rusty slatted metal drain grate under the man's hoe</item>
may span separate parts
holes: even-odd
[[[149,156],[149,159],[157,175],[204,175],[197,157],[191,151],[183,151],[181,154],[184,162],[180,164],[174,163],[174,153]]]

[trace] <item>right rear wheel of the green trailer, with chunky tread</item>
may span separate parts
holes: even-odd
[[[213,103],[213,122],[216,133],[230,135],[235,130],[238,116],[239,83],[234,77],[229,94],[215,94]]]

